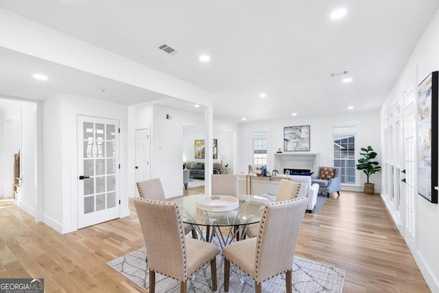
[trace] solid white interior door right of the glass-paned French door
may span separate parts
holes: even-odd
[[[136,137],[136,182],[150,179],[150,130],[135,130]],[[137,189],[136,189],[137,190]],[[138,193],[139,191],[136,191]]]

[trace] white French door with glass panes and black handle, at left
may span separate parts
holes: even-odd
[[[78,228],[120,217],[119,121],[78,115]]]

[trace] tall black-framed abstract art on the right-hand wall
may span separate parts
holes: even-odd
[[[438,71],[418,85],[418,194],[438,203]]]

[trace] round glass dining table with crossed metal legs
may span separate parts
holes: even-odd
[[[263,207],[272,202],[270,198],[263,196],[238,194],[236,209],[211,211],[197,207],[198,200],[210,197],[214,199],[218,196],[198,194],[177,198],[172,202],[176,202],[182,208],[183,222],[193,225],[200,237],[207,242],[211,242],[213,236],[216,235],[221,247],[230,244],[235,239],[243,238],[247,225],[259,223]]]

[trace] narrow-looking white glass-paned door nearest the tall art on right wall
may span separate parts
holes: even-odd
[[[403,234],[410,248],[416,248],[416,103],[403,110],[403,117]]]

